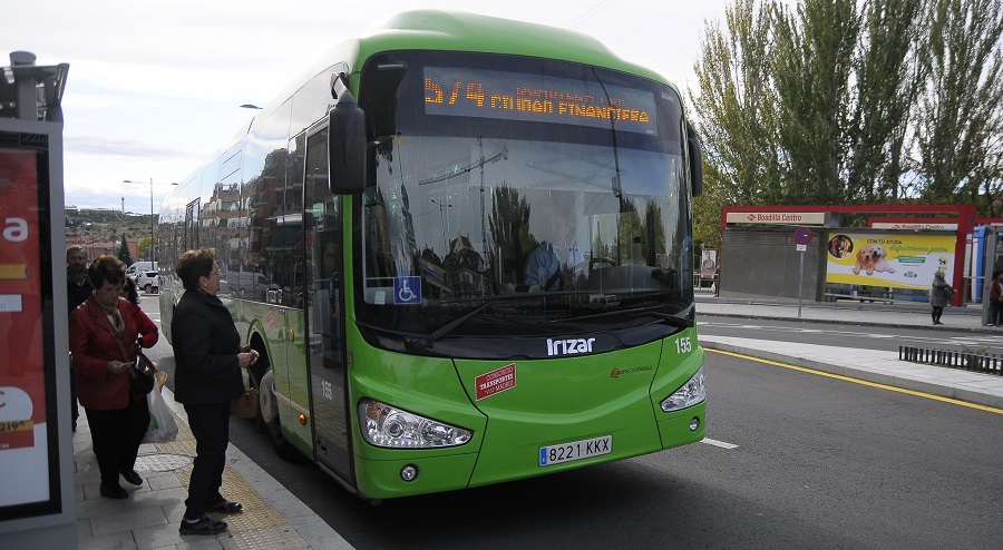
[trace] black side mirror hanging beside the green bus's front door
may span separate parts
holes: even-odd
[[[328,115],[328,170],[331,193],[354,195],[366,184],[366,115],[345,90]]]

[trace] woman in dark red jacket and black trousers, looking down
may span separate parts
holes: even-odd
[[[136,455],[146,430],[149,410],[146,395],[129,391],[129,370],[139,347],[157,343],[157,325],[139,306],[119,296],[125,265],[115,256],[100,256],[90,264],[88,277],[94,294],[70,313],[69,347],[77,372],[77,399],[87,413],[94,454],[101,471],[101,494],[125,499],[119,474],[142,485]]]

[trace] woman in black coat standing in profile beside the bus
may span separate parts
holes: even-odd
[[[230,402],[244,394],[241,369],[257,361],[257,352],[241,347],[241,335],[230,311],[216,297],[220,267],[216,251],[188,251],[175,266],[185,293],[171,321],[175,371],[174,397],[185,406],[195,435],[195,461],[185,500],[182,534],[215,534],[226,522],[206,511],[237,513],[243,507],[220,494],[226,445],[230,443]]]

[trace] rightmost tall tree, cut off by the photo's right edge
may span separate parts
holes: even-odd
[[[927,203],[974,203],[999,216],[1003,184],[1003,8],[934,0],[916,111],[919,190]]]

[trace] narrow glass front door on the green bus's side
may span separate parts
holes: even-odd
[[[306,136],[306,362],[318,464],[354,487],[344,348],[342,199],[328,184],[328,128]]]

